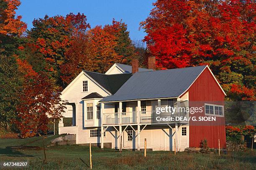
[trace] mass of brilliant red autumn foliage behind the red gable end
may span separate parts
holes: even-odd
[[[208,64],[228,100],[255,100],[254,1],[158,0],[154,5],[141,26],[159,69]]]

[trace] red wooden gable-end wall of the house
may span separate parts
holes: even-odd
[[[225,95],[208,68],[202,72],[188,91],[190,107],[202,107],[204,103],[224,105]],[[205,108],[202,113],[190,116],[205,116]],[[189,147],[200,147],[200,142],[204,139],[207,140],[210,148],[218,148],[218,139],[220,139],[220,148],[226,148],[224,117],[216,117],[215,122],[189,121]]]

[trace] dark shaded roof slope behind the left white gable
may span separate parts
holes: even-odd
[[[108,90],[111,94],[115,92],[132,76],[131,73],[105,75],[97,72],[84,72],[98,82],[102,87]]]

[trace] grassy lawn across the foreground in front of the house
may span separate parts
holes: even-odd
[[[0,161],[28,161],[28,169],[90,169],[89,148],[79,145],[47,147],[47,164],[43,164],[43,150],[12,150],[5,146],[26,145],[42,146],[41,137],[29,139],[0,139]],[[50,140],[47,138],[46,145]],[[39,139],[39,140],[38,140]],[[33,142],[34,141],[34,142]],[[120,169],[120,170],[255,170],[255,150],[246,152],[231,152],[226,155],[190,154],[168,151],[132,152],[123,150],[120,154],[116,150],[92,147],[92,169]]]

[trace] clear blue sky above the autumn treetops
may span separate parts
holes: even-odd
[[[34,18],[44,18],[47,14],[67,15],[68,13],[84,13],[91,27],[111,24],[112,19],[123,19],[128,25],[132,40],[142,40],[146,35],[139,29],[139,23],[147,18],[155,0],[21,0],[17,15],[28,29],[33,27]]]

